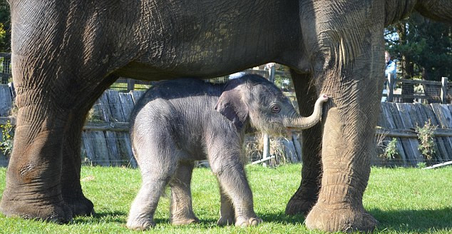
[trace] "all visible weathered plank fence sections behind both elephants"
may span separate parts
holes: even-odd
[[[144,91],[131,91],[123,93],[108,90],[96,101],[89,114],[82,134],[82,159],[86,163],[102,166],[136,166],[130,147],[128,136],[128,116],[135,102]],[[11,109],[11,93],[9,86],[0,85],[0,124],[9,118]],[[373,158],[374,165],[386,166],[416,166],[424,159],[418,151],[418,140],[414,128],[423,126],[430,120],[438,129],[434,133],[437,146],[436,158],[429,163],[452,160],[452,106],[440,103],[381,103],[381,116],[379,118],[376,138],[382,139],[378,143],[378,152]],[[397,139],[399,158],[379,158],[384,147],[391,138]],[[253,139],[252,137],[249,139]],[[281,142],[287,152],[295,152],[289,156],[289,161],[301,160],[301,139],[291,139],[293,145]],[[254,140],[250,140],[254,141]],[[278,140],[280,141],[280,140]],[[289,141],[290,142],[290,141]],[[255,157],[259,160],[260,156]],[[5,166],[6,157],[0,155],[0,165]]]

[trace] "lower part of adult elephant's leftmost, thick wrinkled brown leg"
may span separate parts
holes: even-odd
[[[66,223],[72,212],[61,196],[60,178],[68,110],[39,89],[16,87],[19,113],[0,210],[6,216]]]

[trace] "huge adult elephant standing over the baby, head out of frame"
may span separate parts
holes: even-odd
[[[384,26],[413,10],[452,20],[449,0],[9,4],[19,113],[0,208],[58,222],[93,210],[80,185],[81,128],[116,78],[210,78],[275,61],[291,68],[305,115],[318,93],[332,96],[322,125],[304,132],[302,184],[287,213],[310,210],[308,228],[373,229],[362,196],[383,86]]]

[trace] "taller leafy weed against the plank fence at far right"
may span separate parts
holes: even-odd
[[[418,150],[427,160],[432,160],[436,154],[435,140],[433,139],[433,133],[436,128],[438,126],[432,126],[430,119],[428,119],[428,122],[423,127],[416,125],[419,140]]]

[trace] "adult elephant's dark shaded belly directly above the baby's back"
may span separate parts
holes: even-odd
[[[180,42],[158,46],[164,51],[148,49],[140,58],[130,61],[114,73],[141,80],[212,78],[267,63],[272,56],[264,49],[244,50],[247,47],[243,45],[245,41],[238,38],[227,42],[218,39],[200,41],[202,43]]]

